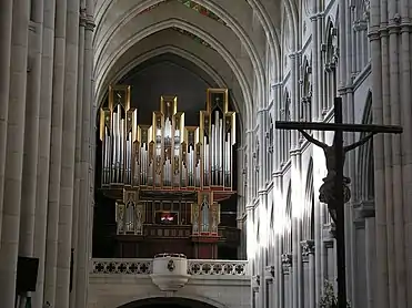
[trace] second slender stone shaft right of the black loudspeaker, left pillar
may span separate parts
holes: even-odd
[[[51,151],[47,215],[47,249],[44,269],[44,302],[56,307],[56,278],[60,209],[61,151],[66,68],[67,0],[56,1],[54,61],[51,113]],[[68,63],[69,64],[69,63]]]

